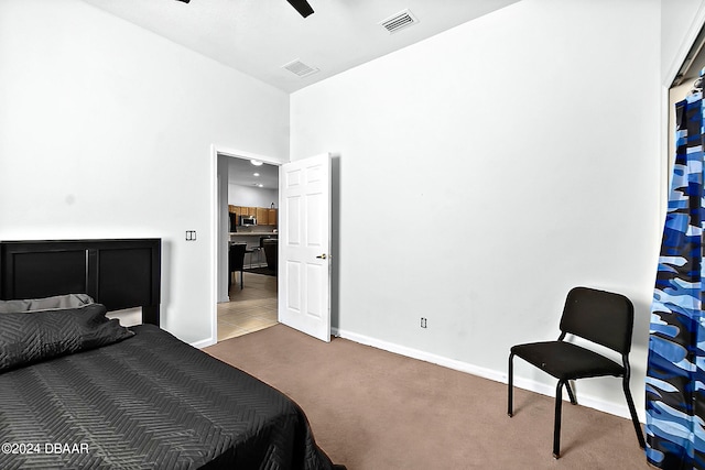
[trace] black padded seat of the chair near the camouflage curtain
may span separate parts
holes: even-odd
[[[625,373],[625,368],[617,362],[566,341],[517,345],[511,352],[558,380]]]

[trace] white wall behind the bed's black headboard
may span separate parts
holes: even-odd
[[[0,239],[160,237],[162,325],[209,339],[210,146],[285,161],[288,95],[78,0],[2,0],[0,103]]]

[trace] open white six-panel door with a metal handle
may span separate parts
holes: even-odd
[[[279,321],[330,341],[330,156],[279,170]]]

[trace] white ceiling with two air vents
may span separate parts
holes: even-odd
[[[189,50],[292,92],[519,0],[83,0]],[[419,22],[379,23],[409,9]],[[319,72],[300,77],[284,65]]]

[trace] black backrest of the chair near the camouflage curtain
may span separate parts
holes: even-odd
[[[634,307],[623,295],[574,287],[565,299],[561,331],[628,354],[633,321]]]

